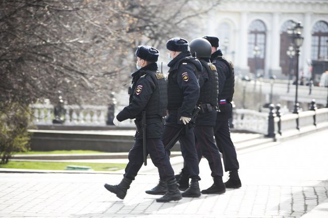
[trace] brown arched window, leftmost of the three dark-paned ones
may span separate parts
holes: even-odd
[[[265,43],[265,24],[261,20],[255,20],[248,28],[248,66],[252,73],[264,69]],[[255,49],[256,52],[254,52]]]

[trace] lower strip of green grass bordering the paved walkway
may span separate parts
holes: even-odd
[[[29,170],[65,170],[67,165],[88,166],[91,167],[94,171],[117,171],[126,167],[125,163],[9,161],[7,164],[0,164],[0,168]]]

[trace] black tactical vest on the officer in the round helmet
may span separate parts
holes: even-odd
[[[218,95],[218,78],[216,67],[212,63],[207,63],[204,60],[199,60],[203,72],[207,72],[208,80],[200,89],[198,103],[210,103],[212,106],[217,106],[217,95]]]

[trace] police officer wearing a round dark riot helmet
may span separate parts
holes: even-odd
[[[198,105],[201,111],[196,118],[196,148],[208,160],[213,178],[213,185],[202,190],[202,194],[222,194],[226,192],[222,180],[223,168],[221,156],[214,142],[213,127],[215,126],[218,95],[218,78],[215,66],[210,63],[211,44],[203,38],[196,38],[190,42],[190,52],[195,55],[202,65],[199,75],[200,95]],[[200,158],[199,158],[200,160]]]

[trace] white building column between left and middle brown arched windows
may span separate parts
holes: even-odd
[[[277,78],[282,77],[282,70],[280,67],[280,26],[279,26],[279,13],[274,13],[272,16],[272,31],[271,31],[271,58],[269,66],[269,75],[276,75]]]

